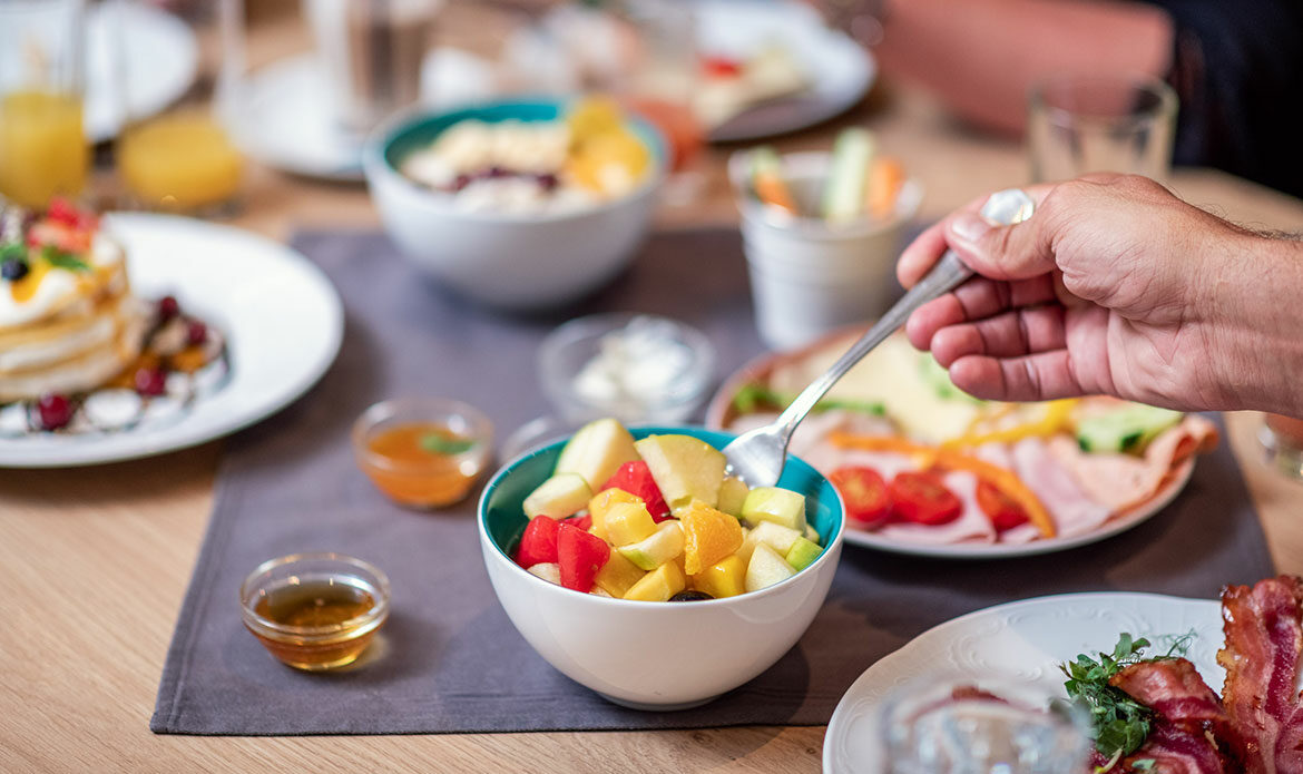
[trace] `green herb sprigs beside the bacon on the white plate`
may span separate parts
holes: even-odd
[[[1089,655],[1079,654],[1076,661],[1059,665],[1067,676],[1063,687],[1067,695],[1076,700],[1091,714],[1091,727],[1095,735],[1095,747],[1100,754],[1110,758],[1108,766],[1101,771],[1108,771],[1123,756],[1128,756],[1149,736],[1149,722],[1153,710],[1127,696],[1123,691],[1109,685],[1109,679],[1128,666],[1145,661],[1165,661],[1186,654],[1195,632],[1174,637],[1162,637],[1169,642],[1164,655],[1144,657],[1143,652],[1151,646],[1149,640],[1140,637],[1134,640],[1131,635],[1123,632],[1118,637],[1118,644],[1113,653],[1100,653],[1098,661]],[[1136,764],[1153,765],[1151,761],[1136,761]],[[1135,769],[1145,770],[1144,766],[1135,765]]]

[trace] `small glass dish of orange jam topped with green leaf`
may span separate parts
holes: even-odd
[[[386,400],[353,422],[357,466],[390,499],[414,508],[466,496],[493,451],[493,422],[442,397]]]

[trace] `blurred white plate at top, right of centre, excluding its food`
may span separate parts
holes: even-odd
[[[846,34],[827,29],[805,3],[698,0],[693,9],[702,53],[745,59],[766,43],[779,43],[810,82],[800,94],[756,106],[711,129],[711,142],[758,139],[826,121],[853,107],[877,76],[873,56]]]

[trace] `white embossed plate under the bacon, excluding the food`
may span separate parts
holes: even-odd
[[[1062,594],[998,605],[946,622],[878,661],[838,702],[823,736],[825,774],[878,774],[878,711],[895,688],[928,676],[1001,680],[1063,695],[1058,665],[1111,652],[1118,635],[1164,637],[1194,631],[1187,658],[1214,689],[1222,644],[1221,605],[1160,594]]]

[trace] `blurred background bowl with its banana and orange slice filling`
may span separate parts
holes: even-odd
[[[481,302],[539,309],[628,263],[666,151],[609,100],[491,102],[394,119],[367,141],[364,168],[417,267]]]

